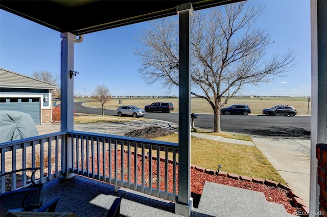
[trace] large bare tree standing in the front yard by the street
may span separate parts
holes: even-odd
[[[192,19],[192,95],[205,99],[213,108],[214,131],[220,132],[220,108],[244,86],[269,83],[285,77],[295,66],[295,53],[266,57],[274,43],[267,30],[255,29],[263,13],[261,6],[246,2],[196,11]],[[142,66],[139,72],[151,85],[161,82],[166,90],[178,86],[177,17],[151,21],[151,28],[137,38],[136,48]]]

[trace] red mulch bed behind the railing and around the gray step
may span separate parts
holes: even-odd
[[[114,153],[112,152],[112,158],[114,159]],[[118,168],[119,168],[119,174],[120,174],[120,168],[121,168],[121,162],[120,162],[120,150],[118,150],[118,158],[119,158],[119,162],[118,162]],[[131,155],[132,158],[134,158],[134,154]],[[102,156],[100,158],[102,160]],[[110,161],[112,162],[112,160],[110,159]],[[125,166],[124,168],[127,168],[127,153],[125,153],[125,157],[124,157],[124,161],[125,161]],[[108,162],[108,152],[106,154],[106,161]],[[141,156],[137,157],[137,166],[138,166],[138,170],[139,172],[137,172],[137,181],[138,184],[142,183],[142,158]],[[152,160],[152,188],[156,189],[156,178],[157,175],[155,174],[156,172],[156,164],[157,161],[155,159]],[[97,160],[95,162],[95,166],[98,165],[97,164]],[[102,166],[102,162],[100,164]],[[114,168],[114,162],[112,162],[112,167]],[[131,160],[131,168],[134,168],[134,160]],[[103,170],[102,168],[100,168],[101,171]],[[95,169],[97,171],[97,168]],[[165,180],[162,179],[162,177],[165,177],[165,163],[163,161],[160,161],[160,190],[161,191],[165,191]],[[107,176],[108,176],[109,172],[107,171]],[[172,185],[172,181],[173,181],[173,164],[169,164],[168,165],[168,191],[169,192],[173,192],[173,185]],[[112,172],[112,176],[114,175],[114,171]],[[120,175],[118,177],[119,179],[121,179]],[[125,177],[124,180],[127,181],[127,174],[125,171]],[[131,180],[134,180],[134,170],[131,170]],[[178,183],[178,165],[176,166],[176,181]],[[195,169],[191,169],[191,197],[193,198],[193,203],[194,203],[194,207],[197,207],[199,201],[200,201],[200,197],[202,194],[202,190],[203,190],[203,186],[204,183],[206,181],[210,181],[210,182],[215,182],[215,183],[219,183],[219,184],[225,184],[225,185],[229,185],[229,186],[233,186],[233,187],[240,187],[240,188],[244,188],[244,189],[250,189],[252,191],[257,191],[257,192],[262,192],[265,194],[265,197],[267,199],[267,201],[270,202],[274,202],[274,203],[279,203],[284,205],[286,211],[290,214],[294,214],[297,215],[297,210],[299,210],[298,207],[295,207],[292,199],[288,196],[289,195],[289,191],[287,189],[284,189],[282,187],[272,187],[272,186],[268,186],[265,184],[261,184],[258,182],[250,182],[247,180],[236,180],[236,179],[232,179],[232,178],[228,178],[228,177],[223,177],[223,176],[216,176],[216,175],[211,175],[205,172],[200,172],[197,171]],[[145,183],[146,186],[149,186],[149,160],[145,159]],[[176,186],[176,194],[178,194],[178,185]]]

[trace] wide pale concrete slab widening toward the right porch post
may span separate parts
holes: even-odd
[[[309,206],[311,141],[259,137],[252,139],[287,186]]]

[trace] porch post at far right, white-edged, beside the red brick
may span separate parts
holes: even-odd
[[[327,144],[327,1],[311,0],[310,216],[319,210],[316,145]]]

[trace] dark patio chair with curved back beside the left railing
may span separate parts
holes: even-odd
[[[35,183],[35,172],[41,168],[24,168],[0,174],[0,177],[23,171],[32,171],[31,185],[11,192],[0,194],[1,206],[7,210],[34,211],[41,208],[42,183]],[[12,181],[16,181],[12,178]]]

